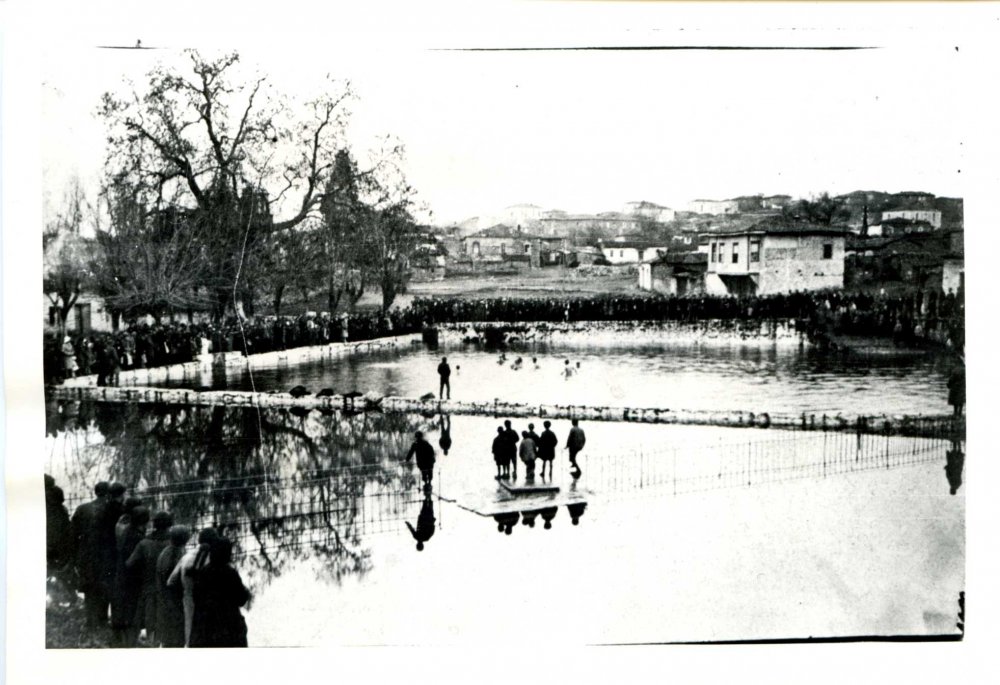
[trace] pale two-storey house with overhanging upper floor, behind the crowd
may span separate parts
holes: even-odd
[[[774,217],[708,235],[705,291],[768,295],[844,286],[847,229]]]

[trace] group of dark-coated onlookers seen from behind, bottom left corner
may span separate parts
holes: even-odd
[[[232,566],[232,542],[205,528],[188,549],[187,526],[125,495],[121,483],[101,481],[70,517],[45,476],[48,575],[72,597],[83,593],[81,643],[246,647],[240,608],[250,593]]]

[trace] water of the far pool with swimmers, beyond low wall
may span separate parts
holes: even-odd
[[[668,407],[836,414],[948,413],[950,361],[932,355],[825,354],[775,346],[532,344],[495,352],[473,345],[389,349],[322,363],[210,371],[172,385],[418,397],[452,367],[452,397],[534,404]],[[519,370],[513,368],[517,357]],[[532,359],[537,359],[537,363]],[[579,371],[567,377],[566,361]]]

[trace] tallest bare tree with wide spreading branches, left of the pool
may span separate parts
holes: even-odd
[[[111,185],[142,188],[154,208],[170,196],[192,213],[216,315],[230,307],[240,314],[253,291],[240,287],[254,278],[247,255],[319,209],[351,91],[334,84],[299,118],[265,77],[241,79],[236,53],[186,56],[187,70],[160,66],[144,88],[104,95],[107,173]],[[287,215],[272,218],[286,207]]]

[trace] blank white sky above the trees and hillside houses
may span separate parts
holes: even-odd
[[[134,44],[133,38],[106,42]],[[290,95],[350,79],[352,141],[406,146],[435,222],[514,203],[596,212],[630,200],[856,189],[961,196],[962,54],[947,45],[859,51],[337,52],[305,41],[233,43]],[[144,41],[149,45],[150,41]],[[179,50],[46,53],[47,202],[104,156],[94,116],[123,77]],[[208,48],[205,54],[220,50]]]

